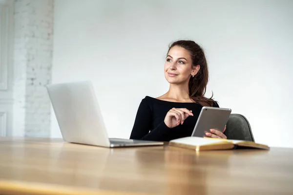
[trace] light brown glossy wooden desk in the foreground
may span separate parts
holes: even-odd
[[[293,194],[293,149],[195,152],[0,137],[0,194]]]

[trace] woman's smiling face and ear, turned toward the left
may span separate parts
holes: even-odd
[[[164,70],[169,83],[182,84],[189,81],[199,71],[199,65],[192,66],[189,52],[179,46],[172,47],[166,58]]]

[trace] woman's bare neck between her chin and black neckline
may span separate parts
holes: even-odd
[[[170,84],[169,91],[167,92],[167,97],[177,100],[189,99],[188,84],[178,85]]]

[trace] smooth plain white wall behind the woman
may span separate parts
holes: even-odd
[[[90,79],[110,137],[128,138],[146,95],[165,93],[176,39],[207,53],[207,96],[245,115],[255,140],[293,147],[293,1],[56,0],[52,82]],[[61,137],[53,113],[52,137]]]

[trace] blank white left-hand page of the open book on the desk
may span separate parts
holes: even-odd
[[[207,139],[203,137],[183,137],[183,138],[173,139],[170,142],[188,144],[192,146],[203,146],[203,145],[209,145],[213,143],[223,143],[227,141],[223,141],[221,139]]]

